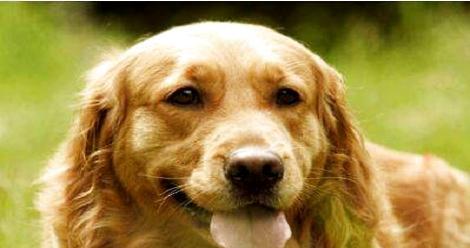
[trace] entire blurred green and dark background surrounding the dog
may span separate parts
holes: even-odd
[[[346,78],[366,136],[470,170],[466,3],[0,3],[0,247],[37,247],[34,180],[111,47],[201,20],[265,24]]]

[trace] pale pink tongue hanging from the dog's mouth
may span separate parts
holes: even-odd
[[[283,248],[291,230],[283,212],[247,207],[214,213],[211,234],[224,248]]]

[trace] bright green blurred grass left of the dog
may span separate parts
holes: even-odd
[[[80,17],[0,4],[0,247],[38,246],[33,181],[67,132],[83,73],[119,38]]]

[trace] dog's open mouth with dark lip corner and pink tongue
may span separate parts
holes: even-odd
[[[166,191],[196,226],[210,228],[213,240],[225,248],[282,248],[291,236],[290,226],[282,211],[251,204],[229,212],[210,212],[198,206],[177,183],[164,180]]]

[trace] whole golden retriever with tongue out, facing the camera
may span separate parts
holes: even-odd
[[[341,76],[205,22],[92,70],[38,198],[43,247],[470,247],[467,176],[365,142]]]

